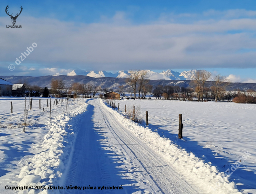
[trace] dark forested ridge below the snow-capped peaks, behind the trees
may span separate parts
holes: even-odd
[[[124,72],[121,72],[124,73]],[[152,73],[152,72],[151,72]],[[189,75],[184,75],[189,76]],[[41,76],[41,77],[32,77],[32,76],[1,76],[4,80],[12,83],[12,84],[20,84],[20,83],[27,83],[30,85],[38,85],[42,88],[48,87],[51,88],[51,80],[63,80],[65,86],[68,88],[73,83],[80,83],[80,84],[94,84],[94,85],[102,85],[102,88],[108,88],[109,91],[118,91],[118,86],[127,84],[126,78],[110,78],[110,77],[100,77],[100,78],[92,78],[89,76],[67,76],[67,75],[60,75],[60,76]],[[194,84],[190,84],[190,80],[149,80],[148,84],[153,85],[177,85],[180,87],[194,87]],[[213,86],[213,81],[207,81],[206,87]],[[227,91],[236,91],[236,90],[246,91],[249,89],[256,90],[256,84],[253,83],[230,83],[226,90]]]

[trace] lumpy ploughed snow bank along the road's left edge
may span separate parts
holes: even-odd
[[[49,132],[44,136],[44,141],[37,144],[34,148],[40,148],[42,151],[32,158],[21,160],[19,186],[37,186],[59,185],[65,173],[69,159],[72,155],[73,142],[76,138],[76,123],[82,119],[82,114],[87,110],[87,103],[81,103],[78,108],[55,116],[54,119],[47,123]],[[19,194],[34,193],[52,193],[51,190],[23,190]],[[55,191],[54,193],[58,193]]]

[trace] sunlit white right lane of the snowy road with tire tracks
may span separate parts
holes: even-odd
[[[128,129],[116,120],[115,116],[105,109],[99,100],[94,100],[96,109],[103,115],[109,130],[121,147],[138,160],[141,167],[148,173],[158,188],[164,194],[195,194],[195,190],[182,180],[179,175],[138,137],[133,136]],[[155,192],[159,192],[156,191]]]

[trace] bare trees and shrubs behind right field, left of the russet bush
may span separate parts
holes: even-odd
[[[119,93],[121,96],[125,96],[127,91],[130,91],[136,97],[136,92],[138,92],[138,98],[145,98],[146,95],[153,90],[153,86],[148,84],[148,71],[146,70],[130,70],[128,71],[128,86],[119,87]],[[180,98],[182,95],[182,99],[184,100],[192,100],[194,98],[194,92],[196,93],[196,98],[198,101],[203,101],[205,99],[212,98],[214,96],[215,101],[219,101],[223,99],[223,95],[226,91],[226,87],[229,82],[226,77],[222,75],[214,76],[214,85],[209,89],[206,88],[205,84],[211,78],[211,73],[206,70],[197,70],[195,74],[192,76],[191,87],[195,88],[195,90],[191,88],[181,88],[179,86],[162,86],[157,85],[154,88],[154,96],[157,98],[164,97],[165,99],[175,99]],[[142,95],[141,95],[142,94]],[[210,94],[210,95],[209,95]]]

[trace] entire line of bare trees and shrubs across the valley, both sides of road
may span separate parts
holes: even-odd
[[[235,103],[256,103],[256,91],[226,91],[229,85],[226,77],[216,75],[213,77],[213,85],[206,87],[205,83],[210,78],[210,73],[205,70],[196,71],[190,82],[190,87],[180,87],[171,85],[156,85],[155,87],[149,83],[148,71],[129,71],[130,76],[127,78],[127,84],[118,87],[117,92],[122,97],[127,94],[133,94],[133,98],[145,99],[151,96],[158,99],[166,100],[189,100],[189,101],[233,101]],[[22,81],[20,81],[22,83]],[[40,88],[37,85],[29,85],[23,82],[26,87],[24,94],[30,97],[64,97],[68,94],[83,95],[84,97],[95,97],[100,91],[106,93],[110,91],[108,88],[102,87],[103,85],[96,85],[95,82],[89,84],[73,83],[67,87],[63,80],[51,81],[51,88]]]

